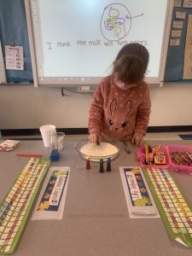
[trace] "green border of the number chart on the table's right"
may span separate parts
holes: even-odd
[[[162,169],[162,168],[157,168],[157,169]],[[164,207],[162,207],[162,204],[160,202],[159,196],[157,195],[155,189],[154,189],[154,184],[151,181],[151,178],[148,175],[148,171],[150,172],[150,170],[148,168],[144,168],[143,169],[143,174],[148,182],[148,186],[151,189],[151,193],[154,196],[154,201],[156,202],[156,205],[160,211],[160,215],[164,220],[164,223],[166,224],[166,230],[168,231],[169,235],[172,237],[172,239],[176,240],[177,238],[181,239],[181,241],[183,241],[183,243],[185,244],[186,247],[192,248],[192,237],[189,235],[189,233],[175,233],[172,230],[172,226],[170,224],[169,219],[166,217],[166,212],[164,211]],[[167,172],[169,172],[166,169]],[[151,171],[153,172],[153,171]],[[170,177],[172,177],[171,173],[169,172]],[[174,180],[174,178],[172,177],[172,181],[175,183],[176,187],[177,187],[177,183]],[[184,197],[183,193],[181,192],[181,190],[177,187],[178,191],[180,192],[180,194],[183,196],[183,200],[185,201],[185,203],[187,204],[187,206],[189,207],[189,203],[187,202],[186,198]],[[191,211],[191,207],[189,207],[190,211]],[[192,211],[191,211],[192,212]]]

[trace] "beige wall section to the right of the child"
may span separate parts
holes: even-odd
[[[192,125],[192,83],[165,83],[150,95],[150,126]]]

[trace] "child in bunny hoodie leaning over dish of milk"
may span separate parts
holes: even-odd
[[[90,142],[102,137],[130,140],[141,145],[150,114],[148,50],[142,44],[126,44],[113,62],[113,72],[102,79],[90,104]]]

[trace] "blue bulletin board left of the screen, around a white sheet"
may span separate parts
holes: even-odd
[[[32,83],[32,63],[24,0],[0,0],[0,40],[5,64],[5,45],[23,47],[24,70],[5,69],[7,83]]]

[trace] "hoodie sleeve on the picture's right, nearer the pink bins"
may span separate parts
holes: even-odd
[[[146,131],[148,129],[149,115],[151,112],[150,108],[151,108],[151,100],[150,100],[150,94],[147,86],[147,90],[145,91],[145,94],[143,96],[143,102],[139,105],[137,109],[135,133],[139,133],[145,136]]]

